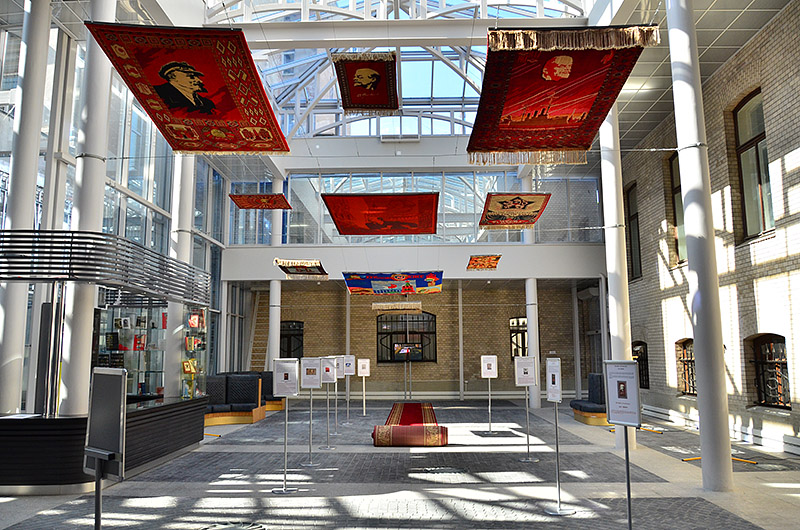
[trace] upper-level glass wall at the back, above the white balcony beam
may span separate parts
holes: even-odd
[[[521,241],[521,230],[483,230],[479,226],[486,194],[519,192],[513,171],[308,173],[287,180],[292,209],[285,212],[288,244],[425,244]],[[537,178],[536,190],[552,193],[536,224],[536,242],[601,242],[603,239],[597,178]],[[234,193],[270,193],[269,183],[234,183]],[[287,193],[285,191],[284,193]],[[439,193],[435,234],[342,236],[322,201],[322,193]],[[269,244],[270,212],[231,208],[231,245]]]

